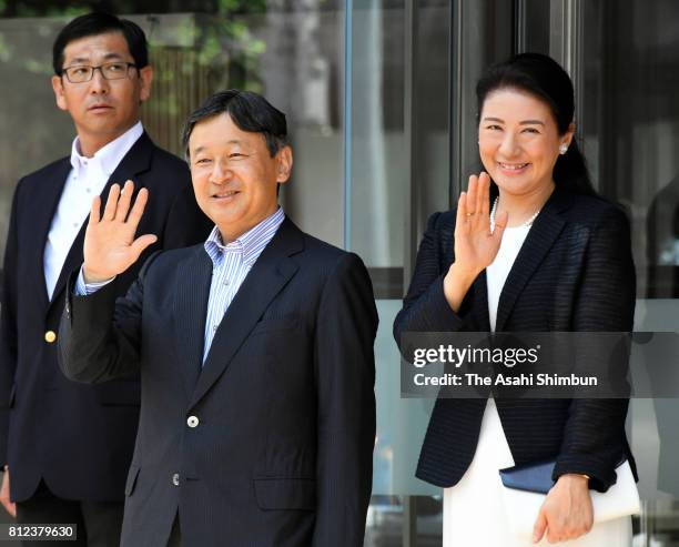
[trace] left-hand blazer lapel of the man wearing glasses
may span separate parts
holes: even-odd
[[[70,171],[71,162],[68,158],[57,162],[52,176],[44,181],[44,184],[40,189],[40,195],[36,196],[37,199],[33,201],[34,209],[30,212],[31,216],[36,219],[36,230],[31,232],[36,241],[27,242],[27,249],[36,250],[36,259],[39,264],[36,265],[37,267],[34,271],[38,273],[39,277],[37,286],[41,287],[39,297],[43,310],[47,310],[49,305],[47,282],[44,281],[44,245],[47,244],[50,227],[52,226],[52,219],[54,217],[57,205],[59,204],[59,199],[61,197]]]

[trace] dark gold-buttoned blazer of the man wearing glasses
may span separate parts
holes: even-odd
[[[71,170],[69,158],[19,181],[4,253],[0,324],[0,457],[11,474],[11,497],[23,502],[42,477],[53,494],[70,499],[123,499],[139,417],[139,381],[85,386],[67,381],[57,363],[57,331],[68,274],[82,264],[87,220],[75,237],[51,302],[42,256],[47,236]],[[197,209],[186,164],[155,146],[144,133],[112,173],[131,179],[150,199],[139,233],[154,233],[153,249],[194,244],[210,224]],[[103,200],[105,202],[105,199]],[[119,280],[124,294],[139,272]]]

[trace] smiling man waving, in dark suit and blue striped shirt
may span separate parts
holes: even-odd
[[[365,266],[285,217],[292,150],[262,97],[215,94],[184,141],[210,237],[154,254],[116,303],[109,280],[153,236],[134,240],[148,193],[130,210],[131,183],[114,186],[101,215],[93,204],[60,330],[72,379],[141,368],[122,545],[361,547],[377,327]]]

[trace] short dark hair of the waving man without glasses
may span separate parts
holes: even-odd
[[[288,145],[285,114],[253,91],[227,89],[219,91],[194,110],[182,133],[182,148],[189,159],[189,139],[196,123],[220,114],[229,114],[242,131],[262,133],[273,158]]]

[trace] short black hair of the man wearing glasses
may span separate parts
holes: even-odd
[[[141,27],[128,19],[120,19],[111,13],[97,11],[77,17],[67,24],[52,45],[52,67],[54,73],[61,75],[63,72],[63,51],[65,47],[81,38],[88,38],[108,32],[120,32],[128,42],[130,54],[134,59],[138,69],[149,64],[149,45],[146,34]]]

